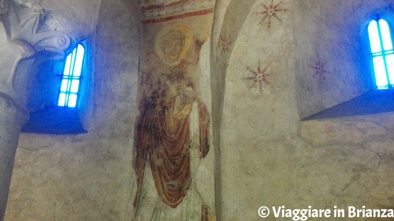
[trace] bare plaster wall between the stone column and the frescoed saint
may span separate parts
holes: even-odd
[[[99,14],[89,132],[21,134],[5,220],[131,218],[139,24],[120,1],[104,1]]]

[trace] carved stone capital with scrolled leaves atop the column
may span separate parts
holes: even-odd
[[[12,1],[0,0],[0,32],[7,36],[6,42],[0,42],[0,92],[25,106],[34,61],[64,59],[71,40],[59,31],[37,32],[40,15],[18,15],[14,7]]]

